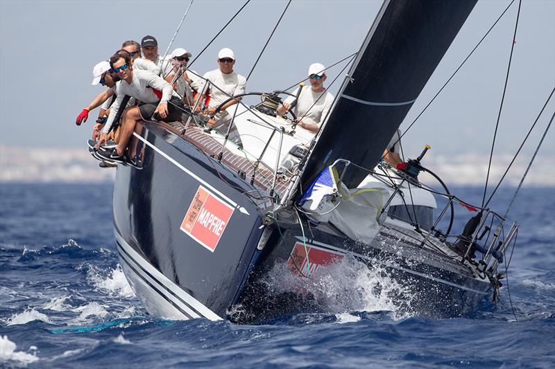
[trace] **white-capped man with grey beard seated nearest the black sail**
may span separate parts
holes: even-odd
[[[326,75],[323,64],[310,64],[308,77],[310,86],[302,87],[299,95],[298,89],[293,91],[293,95],[298,96],[297,105],[293,112],[298,119],[297,127],[316,133],[318,132],[318,127],[322,125],[327,113],[332,108],[334,96],[325,91],[324,82]],[[281,115],[287,114],[289,109],[291,109],[293,101],[295,101],[293,96],[285,99],[283,105],[278,107],[278,113]]]

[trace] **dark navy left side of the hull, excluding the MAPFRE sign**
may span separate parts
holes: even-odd
[[[141,136],[144,141],[133,138],[133,143],[138,144],[137,152],[142,152],[142,170],[119,165],[114,187],[114,233],[124,269],[135,276],[132,287],[150,285],[160,294],[157,298],[177,305],[177,312],[162,309],[164,314],[194,317],[165,290],[169,280],[217,316],[225,316],[262,233],[257,207],[242,194],[253,188],[160,126],[146,123]],[[232,208],[214,251],[181,229],[199,186]],[[129,249],[136,254],[130,255]],[[149,276],[144,264],[167,280],[155,285],[152,280],[156,278]]]

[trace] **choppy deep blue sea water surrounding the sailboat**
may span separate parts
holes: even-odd
[[[481,200],[481,188],[456,193]],[[512,194],[499,192],[499,212]],[[504,287],[495,308],[466,318],[400,319],[370,306],[271,325],[148,316],[119,269],[111,198],[109,185],[1,184],[0,367],[553,367],[554,188],[524,188],[511,212],[521,224],[513,309]],[[456,215],[461,229],[472,214]]]

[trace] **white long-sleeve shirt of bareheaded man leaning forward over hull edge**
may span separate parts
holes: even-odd
[[[158,99],[158,96],[156,96],[153,89],[162,91],[161,99]],[[153,104],[159,100],[160,102],[168,102],[171,99],[171,96],[178,97],[177,93],[173,92],[171,84],[166,82],[162,77],[155,75],[151,71],[142,70],[133,71],[133,80],[131,81],[131,84],[128,84],[125,80],[121,80],[117,83],[116,95],[117,98],[112,104],[108,121],[102,129],[102,133],[107,134],[110,132],[110,129],[114,124],[117,111],[119,110],[119,106],[121,105],[121,101],[126,95],[135,98],[137,101],[145,102],[146,104]]]

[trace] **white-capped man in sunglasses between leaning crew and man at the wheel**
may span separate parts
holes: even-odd
[[[192,54],[185,48],[176,48],[169,55],[168,61],[164,61],[164,73],[162,74],[189,107],[194,105],[194,95],[202,89],[204,84],[196,71],[187,73],[187,63],[191,56]]]

